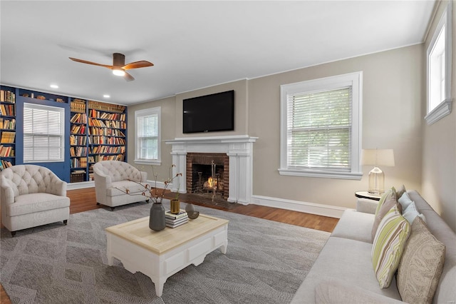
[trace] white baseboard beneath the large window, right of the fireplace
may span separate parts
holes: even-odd
[[[328,216],[331,218],[341,218],[346,208],[329,206],[318,203],[307,203],[302,201],[291,201],[283,198],[271,198],[269,196],[252,196],[252,203],[259,206],[281,208],[291,211],[316,214],[318,216]]]

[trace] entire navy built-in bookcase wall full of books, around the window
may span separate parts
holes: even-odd
[[[24,163],[24,105],[66,108],[65,161],[36,163],[69,182],[93,181],[93,164],[126,161],[125,106],[1,85],[0,170]],[[16,148],[19,147],[19,148]]]

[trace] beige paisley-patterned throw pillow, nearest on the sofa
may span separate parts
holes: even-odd
[[[432,303],[445,261],[445,245],[417,217],[398,267],[396,283],[403,301]]]

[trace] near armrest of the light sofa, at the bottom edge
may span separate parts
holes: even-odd
[[[324,280],[315,288],[315,303],[370,303],[370,304],[398,304],[401,300],[389,298],[386,295],[373,293],[357,286],[349,285],[338,279]]]

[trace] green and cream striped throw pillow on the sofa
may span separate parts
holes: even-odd
[[[372,264],[380,288],[390,286],[408,235],[410,224],[393,206],[380,222],[372,246]]]

